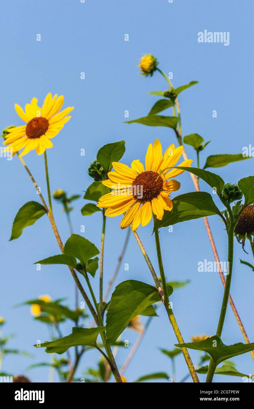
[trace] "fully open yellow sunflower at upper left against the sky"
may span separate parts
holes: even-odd
[[[37,105],[38,99],[33,98],[31,103],[26,104],[25,112],[15,104],[18,116],[27,123],[23,126],[15,126],[8,129],[8,135],[4,145],[9,145],[3,152],[11,149],[13,154],[24,148],[20,156],[36,149],[37,155],[41,155],[46,149],[52,148],[51,139],[63,128],[71,118],[67,116],[74,107],[68,107],[59,112],[64,103],[64,97],[57,94],[52,98],[51,93],[46,96],[42,108]],[[58,112],[58,113],[57,113]]]

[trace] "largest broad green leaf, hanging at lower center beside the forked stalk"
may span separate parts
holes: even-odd
[[[173,289],[169,288],[169,295]],[[112,294],[106,316],[106,345],[115,342],[130,320],[148,306],[160,301],[157,288],[136,280],[118,284]]]

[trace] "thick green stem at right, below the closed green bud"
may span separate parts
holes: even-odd
[[[232,278],[233,256],[234,256],[234,228],[235,228],[235,225],[236,225],[236,223],[234,222],[233,215],[232,215],[230,217],[230,227],[228,229],[228,256],[227,256],[227,263],[228,264],[227,264],[227,266],[229,268],[228,268],[228,271],[227,271],[228,274],[227,274],[225,289],[224,289],[224,294],[223,294],[221,313],[220,313],[219,322],[218,322],[217,331],[216,331],[216,335],[218,337],[221,337],[221,333],[222,333],[222,330],[223,330],[225,315],[226,315],[226,311],[227,311],[228,297],[229,297],[229,294],[230,294],[230,284],[231,284],[231,278]],[[206,382],[212,382],[212,378],[213,378],[215,369],[216,369],[215,362],[211,358],[210,359],[210,364],[209,364],[209,367],[208,367]]]

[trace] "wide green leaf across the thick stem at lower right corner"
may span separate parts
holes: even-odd
[[[254,342],[252,342],[252,344],[243,344],[242,342],[239,342],[238,344],[225,345],[220,337],[213,335],[204,341],[185,342],[184,344],[175,344],[175,346],[195,349],[197,351],[205,351],[213,358],[214,363],[217,366],[227,359],[252,351],[254,349]]]

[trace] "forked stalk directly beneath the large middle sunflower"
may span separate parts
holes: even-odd
[[[132,228],[132,226],[131,226],[131,228]],[[157,233],[158,233],[158,231],[157,231]],[[170,323],[171,323],[171,325],[173,327],[173,330],[174,330],[174,333],[175,333],[175,335],[177,337],[177,340],[178,340],[179,344],[182,344],[182,343],[184,343],[183,337],[182,337],[181,332],[179,330],[179,327],[177,325],[177,321],[176,321],[176,319],[174,317],[172,308],[170,308],[170,306],[169,306],[168,292],[167,292],[167,287],[166,287],[166,279],[165,279],[165,274],[164,274],[164,270],[163,270],[161,252],[160,252],[159,233],[158,233],[157,238],[155,238],[155,240],[156,240],[157,255],[158,255],[158,262],[159,262],[161,278],[162,278],[162,275],[163,275],[163,279],[162,279],[163,284],[162,285],[164,285],[165,292],[163,291],[164,289],[161,288],[161,284],[159,282],[159,279],[158,279],[158,277],[157,277],[157,275],[155,273],[154,268],[152,267],[152,263],[151,263],[151,261],[150,261],[150,259],[148,257],[148,254],[147,254],[147,252],[146,252],[146,250],[145,250],[145,248],[144,248],[144,246],[143,246],[143,244],[142,244],[142,242],[141,242],[141,240],[139,238],[139,235],[137,234],[137,231],[133,231],[133,234],[134,234],[134,236],[135,236],[135,238],[137,240],[137,243],[139,245],[139,248],[141,249],[141,252],[142,252],[142,254],[143,254],[143,256],[144,256],[144,258],[146,260],[146,263],[147,263],[147,265],[149,267],[149,270],[150,270],[150,272],[152,274],[152,278],[155,281],[159,296],[161,298],[162,303],[164,304],[164,306],[166,308],[168,318],[169,318]],[[186,360],[186,364],[187,364],[188,369],[190,371],[190,375],[192,377],[193,382],[199,382],[199,378],[197,376],[197,373],[195,371],[194,365],[192,363],[192,360],[190,358],[190,355],[188,353],[187,348],[182,348],[182,353],[183,353],[184,359]]]

